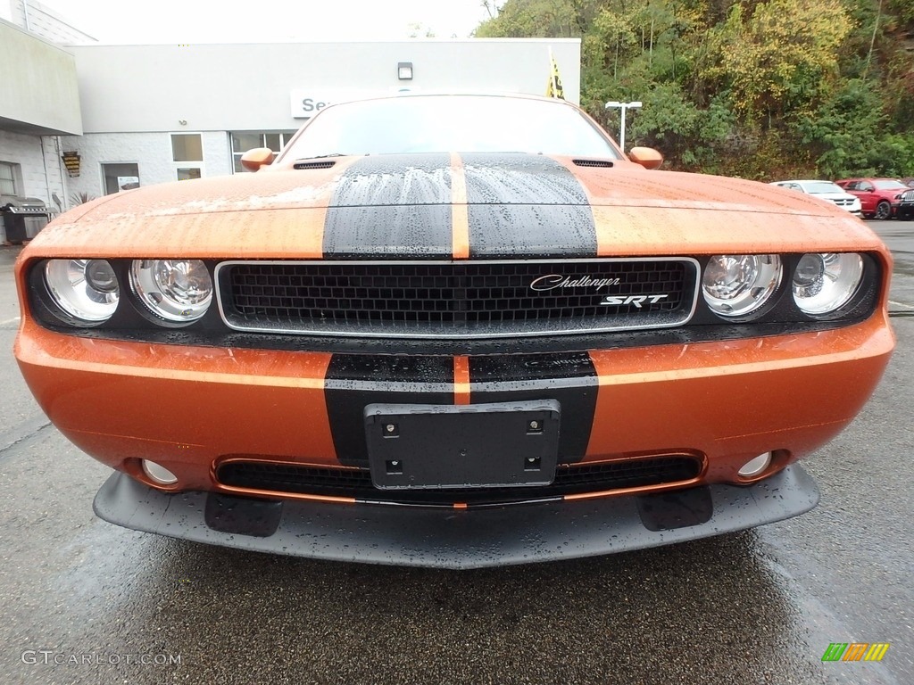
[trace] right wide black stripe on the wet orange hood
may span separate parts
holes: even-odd
[[[578,179],[539,154],[462,154],[470,258],[596,257],[597,230]]]

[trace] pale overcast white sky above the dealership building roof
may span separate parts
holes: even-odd
[[[464,38],[488,17],[483,0],[38,2],[101,43],[126,44]]]

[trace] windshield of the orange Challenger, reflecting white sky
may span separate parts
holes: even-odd
[[[429,95],[328,107],[304,126],[281,159],[448,152],[620,158],[588,119],[561,100]]]

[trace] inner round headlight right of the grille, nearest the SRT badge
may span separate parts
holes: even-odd
[[[771,298],[782,272],[778,255],[715,255],[707,262],[701,290],[716,314],[745,316]]]

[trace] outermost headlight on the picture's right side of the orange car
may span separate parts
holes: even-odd
[[[863,279],[856,253],[805,254],[793,272],[793,300],[807,314],[827,314],[847,303]]]

